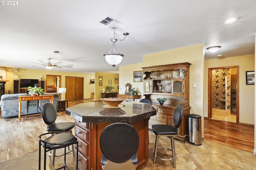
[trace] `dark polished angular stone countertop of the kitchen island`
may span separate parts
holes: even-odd
[[[100,101],[68,107],[66,113],[81,122],[132,123],[156,115],[156,109],[150,104],[126,101],[113,108]]]

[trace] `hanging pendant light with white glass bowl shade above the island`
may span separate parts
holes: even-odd
[[[129,35],[129,33],[123,33],[123,35],[125,35],[124,39],[126,38],[127,35]],[[117,38],[116,38],[117,37]],[[110,40],[113,42],[112,48],[110,49],[110,51],[106,54],[104,54],[105,59],[107,61],[108,64],[112,65],[113,68],[121,63],[122,58],[124,57],[123,54],[118,53],[116,51],[116,41],[119,39],[119,35],[115,32],[114,30],[114,38],[111,38]],[[120,41],[123,41],[124,39],[119,39]]]

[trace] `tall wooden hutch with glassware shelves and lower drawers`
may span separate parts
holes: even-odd
[[[189,106],[189,67],[190,63],[168,64],[161,66],[143,67],[146,75],[143,80],[143,93],[156,108],[156,115],[151,116],[149,128],[154,124],[173,125],[172,116],[178,104],[183,106],[182,123],[179,128],[178,139],[185,143],[187,139],[187,115]],[[160,105],[156,98],[167,98]]]

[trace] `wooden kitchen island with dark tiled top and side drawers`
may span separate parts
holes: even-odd
[[[156,109],[150,104],[124,101],[118,107],[108,107],[102,101],[90,102],[69,107],[66,113],[75,118],[78,165],[82,170],[102,169],[100,135],[107,125],[116,122],[133,125],[138,131],[140,145],[137,169],[148,161],[148,120],[150,116],[156,115]]]

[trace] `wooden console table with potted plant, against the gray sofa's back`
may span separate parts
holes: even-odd
[[[30,100],[47,100],[50,99],[50,103],[53,104],[54,100],[54,95],[42,95],[42,96],[19,96],[19,121],[21,120],[21,117],[25,116],[34,116],[34,115],[40,115],[41,113],[38,114],[33,114],[33,115],[21,115],[21,102],[22,101],[30,101]]]

